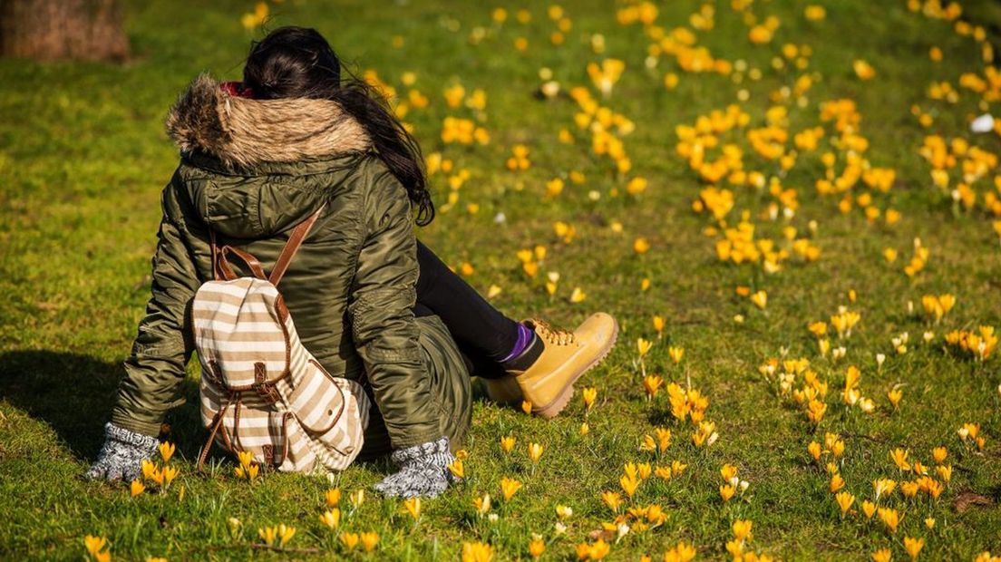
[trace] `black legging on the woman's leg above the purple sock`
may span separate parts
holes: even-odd
[[[518,322],[493,308],[427,246],[417,242],[417,316],[437,315],[458,344],[470,375],[505,375],[500,360],[518,342]]]

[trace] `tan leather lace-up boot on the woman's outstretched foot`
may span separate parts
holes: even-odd
[[[524,399],[532,402],[532,412],[552,418],[567,407],[574,395],[574,383],[612,351],[619,324],[612,316],[599,312],[573,332],[537,319],[526,320],[525,325],[535,330],[546,348],[526,370],[508,372],[515,375]]]

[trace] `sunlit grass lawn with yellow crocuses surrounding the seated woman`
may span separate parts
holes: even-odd
[[[1001,351],[975,339],[980,326],[1001,329],[1001,142],[969,128],[1001,99],[1001,80],[971,78],[995,72],[984,49],[1001,39],[1001,6],[964,1],[948,19],[905,0],[815,0],[824,14],[792,0],[660,2],[656,14],[526,2],[500,18],[499,2],[268,3],[269,28],[316,27],[358,71],[376,71],[425,155],[450,162],[431,175],[440,212],[424,242],[478,289],[499,288],[492,301],[514,317],[573,327],[606,310],[623,327],[557,419],[478,400],[466,478],[419,519],[370,490],[386,462],[338,474],[338,537],[318,517],[325,479],[248,483],[221,454],[195,473],[197,362],[169,420],[180,469],[169,489],[130,498],[80,479],[149,294],[159,192],[177,161],[166,110],[203,70],[237,79],[261,36],[241,24],[249,1],[124,4],[128,64],[0,61],[0,558],[79,560],[86,535],[131,560],[451,560],[477,541],[494,559],[529,559],[537,534],[554,560],[599,558],[603,544],[608,559],[660,560],[680,542],[698,559],[728,548],[749,560],[906,559],[911,539],[924,541],[921,559],[1001,555]],[[625,63],[621,77],[589,73],[603,60]],[[552,98],[540,94],[549,80]],[[450,107],[457,85],[464,97]],[[826,103],[836,100],[854,106]],[[448,116],[488,142],[445,143]],[[512,171],[520,144],[531,164]],[[817,321],[826,334],[808,329]],[[972,350],[947,341],[961,330]],[[642,362],[640,338],[652,342]],[[680,362],[669,347],[684,350]],[[664,380],[650,400],[644,373]],[[597,389],[590,411],[585,386]],[[965,438],[964,424],[975,424]],[[644,450],[656,428],[670,446]],[[510,453],[503,436],[516,439]],[[535,467],[532,442],[544,448]],[[908,454],[899,465],[897,449]],[[628,496],[626,463],[676,461],[686,467],[641,474]],[[728,464],[736,494],[724,501]],[[510,501],[505,477],[523,484]],[[890,511],[863,513],[878,479],[896,483],[878,498],[896,510],[896,532]],[[844,515],[839,483],[855,498]],[[356,490],[367,492],[355,508]],[[620,494],[618,513],[606,491]],[[483,494],[492,505],[480,515]],[[573,509],[563,533],[558,505]],[[738,520],[753,522],[743,543]],[[261,548],[258,528],[278,524],[295,536]],[[377,533],[373,552],[345,545],[358,532]]]

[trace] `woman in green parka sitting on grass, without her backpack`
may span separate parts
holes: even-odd
[[[255,43],[242,83],[197,78],[167,128],[181,161],[162,194],[152,298],[89,478],[137,478],[164,415],[183,402],[188,304],[213,278],[210,237],[274,263],[321,207],[281,293],[326,371],[364,380],[377,411],[360,456],[391,450],[399,466],[376,485],[385,494],[445,489],[469,427],[470,376],[491,399],[552,417],[615,343],[604,313],[574,332],[509,319],[416,241],[414,221],[434,216],[419,150],[364,82],[341,80],[312,29]]]

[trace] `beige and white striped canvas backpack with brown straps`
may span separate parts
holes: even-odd
[[[210,232],[215,279],[191,303],[201,363],[201,419],[212,441],[250,452],[263,467],[342,470],[361,450],[368,397],[358,383],[327,373],[302,346],[277,285],[322,208],[296,226],[270,276],[256,258],[218,247]],[[237,277],[232,254],[252,277]]]

